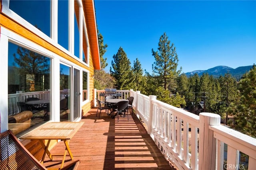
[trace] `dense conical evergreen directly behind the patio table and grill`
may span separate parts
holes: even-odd
[[[111,61],[110,74],[116,80],[116,88],[120,90],[129,90],[134,88],[135,77],[132,72],[130,60],[126,53],[120,47]]]

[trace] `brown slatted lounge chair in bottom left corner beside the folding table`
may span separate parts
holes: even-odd
[[[0,135],[1,170],[47,170],[23,145],[11,130]],[[60,170],[76,170],[80,160],[76,160]]]

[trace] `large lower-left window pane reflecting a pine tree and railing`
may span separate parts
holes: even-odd
[[[8,128],[15,135],[50,120],[50,70],[50,58],[8,43]]]

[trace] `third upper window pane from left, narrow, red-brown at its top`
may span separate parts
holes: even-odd
[[[74,15],[74,55],[80,58],[79,51],[80,51],[80,37],[79,37],[79,5],[78,2],[75,0],[75,15]]]

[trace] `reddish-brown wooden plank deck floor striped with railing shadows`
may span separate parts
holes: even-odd
[[[79,170],[133,170],[164,169],[176,170],[164,158],[147,134],[144,126],[134,115],[111,119],[104,111],[100,119],[97,109],[91,109],[81,121],[84,125],[70,140],[70,149],[74,160],[80,159]],[[63,154],[64,143],[58,143],[52,154]],[[47,168],[59,168],[62,157],[44,162]],[[70,162],[66,156],[65,164]],[[64,164],[64,166],[65,166]]]

